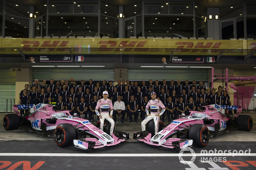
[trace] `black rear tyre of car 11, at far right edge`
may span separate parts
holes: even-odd
[[[252,117],[249,115],[238,115],[236,126],[241,127],[239,128],[240,131],[251,131],[253,126]]]

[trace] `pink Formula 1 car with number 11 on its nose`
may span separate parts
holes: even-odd
[[[210,137],[239,129],[251,131],[253,122],[249,115],[240,115],[240,106],[208,105],[202,106],[200,111],[190,111],[187,117],[173,120],[171,124],[163,126],[155,134],[155,124],[149,121],[146,131],[134,132],[133,138],[149,145],[163,146],[166,148],[183,149],[192,145],[205,147]],[[225,110],[234,110],[235,116],[225,115]],[[172,138],[176,134],[177,138]]]

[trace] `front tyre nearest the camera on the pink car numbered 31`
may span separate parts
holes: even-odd
[[[59,124],[54,131],[54,139],[60,147],[72,145],[76,138],[76,130],[72,124]]]

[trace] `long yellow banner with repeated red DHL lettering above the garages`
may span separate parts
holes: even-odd
[[[0,39],[0,54],[246,55],[254,40],[202,39]],[[254,54],[256,55],[256,54]]]

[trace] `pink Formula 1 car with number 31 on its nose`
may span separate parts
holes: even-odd
[[[30,108],[32,116],[20,115],[19,109]],[[14,105],[15,114],[4,116],[4,129],[25,129],[46,137],[53,137],[57,145],[91,150],[104,146],[117,145],[129,139],[129,133],[115,131],[109,134],[110,123],[105,121],[104,130],[89,120],[73,117],[68,111],[55,111],[57,106],[39,103],[35,105]],[[86,138],[88,135],[90,138]]]

